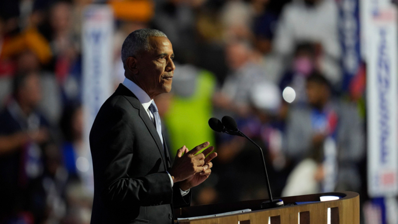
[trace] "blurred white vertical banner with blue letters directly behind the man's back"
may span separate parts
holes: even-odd
[[[83,111],[84,154],[79,169],[88,189],[94,191],[92,158],[89,134],[101,105],[111,95],[113,55],[113,12],[107,5],[90,5],[83,12],[82,61],[83,61]],[[77,165],[76,165],[77,166]]]

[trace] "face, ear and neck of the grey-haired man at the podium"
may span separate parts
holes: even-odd
[[[153,99],[170,92],[174,69],[172,43],[166,37],[150,37],[150,50],[137,56],[137,84]]]

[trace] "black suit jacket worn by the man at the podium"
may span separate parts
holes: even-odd
[[[166,146],[165,146],[166,147]],[[92,224],[171,224],[174,207],[188,205],[171,186],[156,128],[123,84],[101,106],[90,132],[94,167]]]

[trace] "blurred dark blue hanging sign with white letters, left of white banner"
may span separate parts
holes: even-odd
[[[341,71],[343,90],[349,88],[350,81],[359,71],[361,53],[359,51],[359,0],[339,0],[339,37],[341,45]]]

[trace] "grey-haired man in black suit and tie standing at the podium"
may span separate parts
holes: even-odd
[[[173,58],[172,44],[155,29],[136,30],[123,43],[126,79],[90,132],[92,224],[173,223],[173,207],[189,205],[189,189],[211,173],[217,153],[212,146],[199,153],[209,142],[191,151],[181,147],[170,164],[153,98],[171,90]]]

